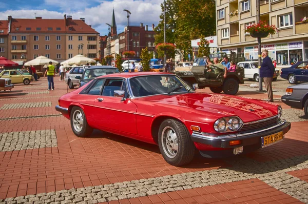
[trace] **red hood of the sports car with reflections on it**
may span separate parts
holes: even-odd
[[[207,119],[237,115],[244,123],[277,115],[278,107],[274,103],[248,97],[197,92],[135,98],[133,102],[137,104],[138,112],[149,115],[174,112],[185,117],[192,113],[206,115]],[[152,106],[153,109],[149,108]]]

